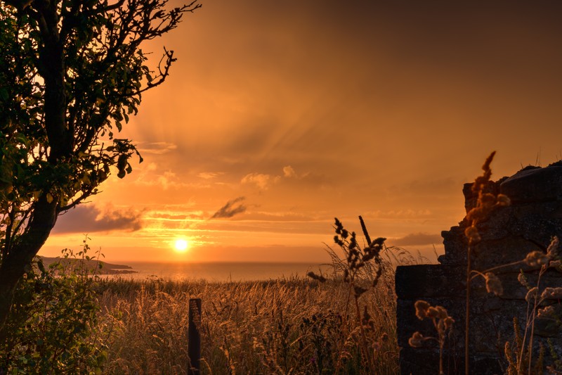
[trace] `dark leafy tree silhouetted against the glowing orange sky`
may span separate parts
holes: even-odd
[[[141,44],[201,6],[167,3],[0,0],[0,343],[15,286],[58,215],[140,158],[114,132],[175,61],[164,48],[152,71]]]

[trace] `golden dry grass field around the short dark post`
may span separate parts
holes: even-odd
[[[343,281],[116,279],[100,281],[98,293],[109,374],[186,374],[190,298],[202,299],[202,374],[366,373]],[[396,374],[393,274],[361,301],[377,374]]]

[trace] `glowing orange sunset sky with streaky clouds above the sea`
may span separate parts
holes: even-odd
[[[561,1],[202,5],[143,48],[178,58],[119,135],[144,163],[41,255],[87,233],[114,262],[327,262],[362,215],[434,259],[491,151],[495,179],[562,158]]]

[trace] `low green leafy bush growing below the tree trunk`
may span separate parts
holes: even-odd
[[[40,259],[18,286],[18,303],[7,325],[11,336],[0,348],[0,369],[8,374],[98,374],[107,357],[99,336],[96,276],[84,264],[95,258],[84,246],[46,269]]]

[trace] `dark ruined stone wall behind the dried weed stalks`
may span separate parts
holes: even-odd
[[[508,207],[496,208],[488,220],[478,224],[482,241],[473,246],[472,269],[484,272],[492,267],[523,260],[533,250],[543,252],[552,236],[562,241],[562,161],[549,167],[527,167],[511,177],[486,186],[490,193],[503,193],[511,199]],[[468,212],[476,205],[477,197],[471,184],[463,187],[465,208]],[[466,254],[468,243],[464,229],[468,223],[443,231],[445,255],[438,265],[400,266],[396,270],[398,296],[398,345],[400,346],[401,374],[437,374],[439,350],[436,341],[424,342],[423,348],[410,348],[408,339],[419,331],[424,336],[437,333],[429,320],[415,316],[414,303],[426,300],[441,305],[455,319],[454,329],[447,338],[443,353],[445,374],[464,373],[464,320],[466,296]],[[538,270],[524,264],[495,269],[502,281],[504,293],[496,296],[485,290],[482,277],[471,281],[471,374],[502,374],[507,367],[504,346],[514,340],[514,318],[524,329],[528,304],[527,288],[518,280],[523,272],[530,286],[537,285]],[[562,273],[549,269],[540,279],[540,290],[547,286],[562,286]],[[560,301],[552,301],[562,312]],[[534,348],[547,348],[547,340],[554,343],[562,355],[562,329],[547,319],[535,320]],[[537,355],[535,355],[535,358]]]

